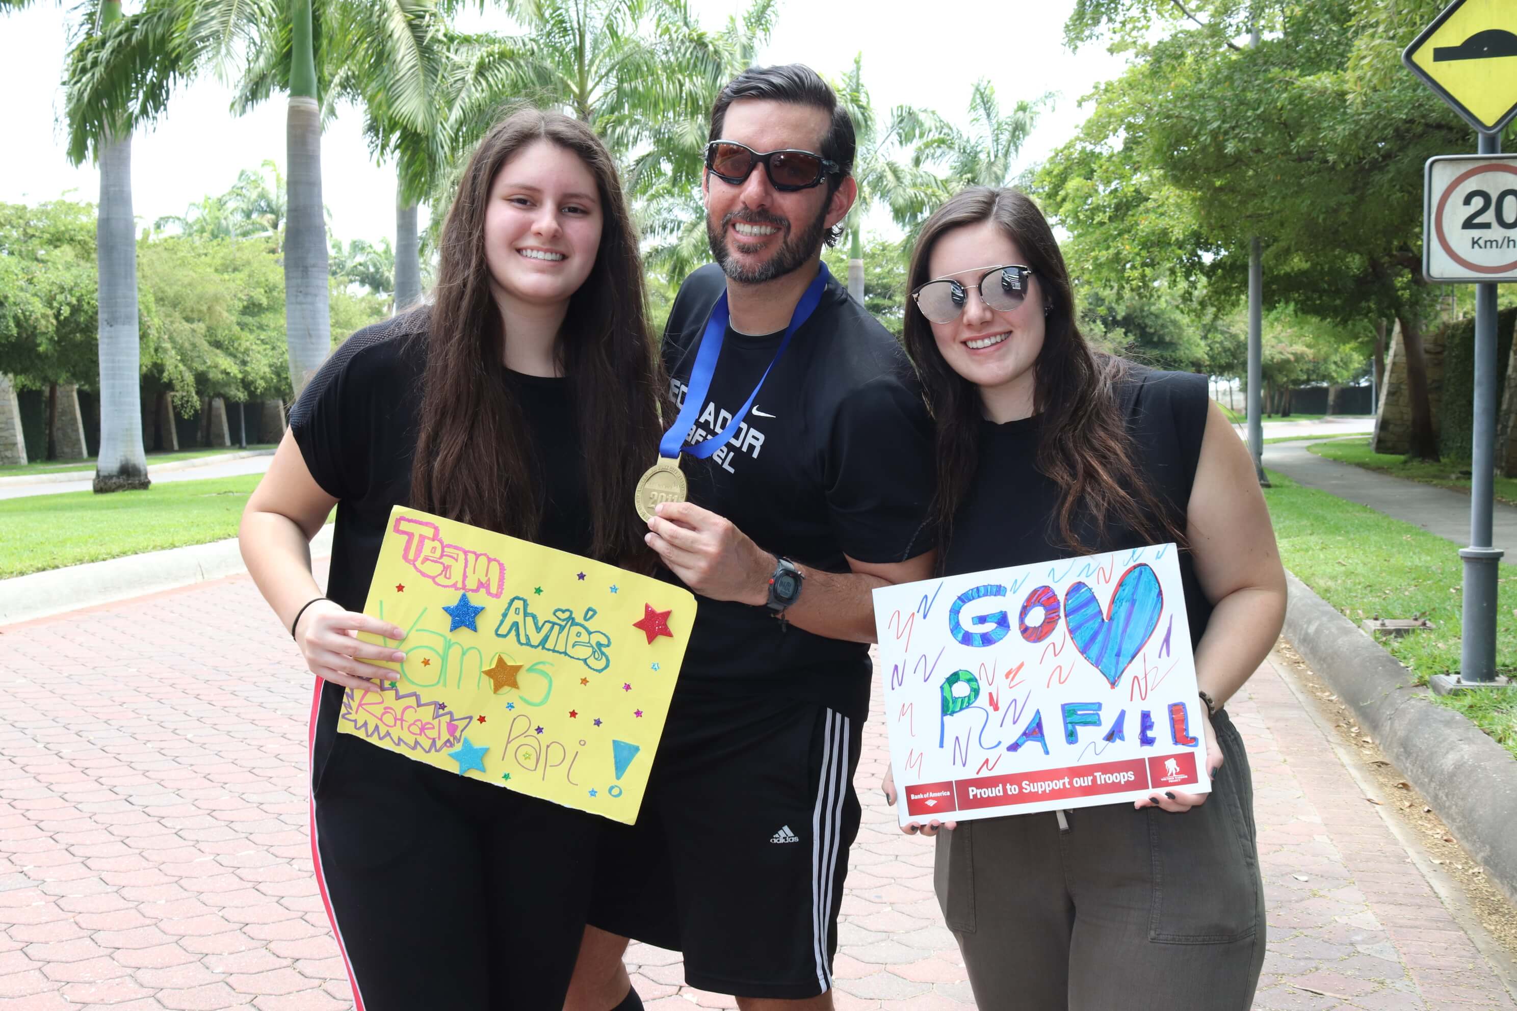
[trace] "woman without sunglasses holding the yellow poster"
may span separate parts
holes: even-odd
[[[356,632],[390,509],[651,568],[633,490],[663,383],[637,236],[583,124],[519,111],[481,141],[431,306],[350,336],[311,379],[243,515],[258,588],[317,675],[311,838],[360,1009],[558,1008],[598,820],[337,734],[343,691],[400,659]],[[308,541],[337,506],[326,594]]]

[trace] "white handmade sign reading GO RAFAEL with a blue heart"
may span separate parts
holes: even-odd
[[[1208,793],[1173,544],[874,591],[901,825]]]

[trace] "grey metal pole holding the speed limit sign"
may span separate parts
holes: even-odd
[[[1500,133],[1481,133],[1481,155],[1500,155]],[[1464,559],[1464,641],[1459,681],[1496,681],[1496,584],[1502,552],[1491,547],[1496,484],[1496,285],[1475,285],[1475,452],[1470,465],[1470,547]]]

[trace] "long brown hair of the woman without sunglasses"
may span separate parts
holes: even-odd
[[[505,383],[504,324],[490,294],[484,239],[496,174],[536,141],[579,156],[595,176],[605,214],[595,267],[569,300],[557,346],[584,447],[590,553],[649,568],[633,490],[658,458],[664,383],[648,332],[637,233],[605,146],[557,112],[519,109],[496,123],[458,183],[443,224],[437,300],[429,311],[411,503],[528,540],[542,526],[543,461],[534,456],[526,418]],[[511,340],[508,332],[505,340]]]

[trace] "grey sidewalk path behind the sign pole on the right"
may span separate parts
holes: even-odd
[[[1308,452],[1309,444],[1302,441],[1265,446],[1264,465],[1308,488],[1321,488],[1340,499],[1367,505],[1377,512],[1420,526],[1459,547],[1468,546],[1470,496],[1405,477],[1377,474],[1353,464],[1340,464]],[[1491,540],[1506,553],[1506,561],[1517,561],[1517,508],[1497,502],[1491,531]]]

